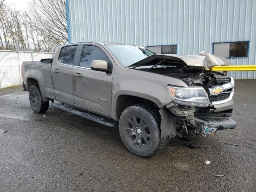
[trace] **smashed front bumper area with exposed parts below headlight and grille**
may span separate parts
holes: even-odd
[[[185,132],[206,136],[218,130],[234,129],[236,122],[231,118],[233,104],[232,100],[207,108],[169,104],[166,110],[160,110],[161,136],[182,136]],[[168,126],[168,129],[162,126]]]

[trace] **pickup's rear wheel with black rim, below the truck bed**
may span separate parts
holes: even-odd
[[[30,106],[35,113],[43,113],[48,110],[49,101],[44,102],[39,86],[32,85],[28,96]]]

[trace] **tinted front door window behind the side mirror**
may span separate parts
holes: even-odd
[[[80,59],[80,66],[90,68],[92,60],[104,60],[109,65],[112,65],[106,54],[96,46],[85,45]]]

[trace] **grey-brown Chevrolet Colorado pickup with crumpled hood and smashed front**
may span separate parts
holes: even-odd
[[[23,62],[24,89],[32,110],[49,101],[67,112],[114,127],[139,156],[164,149],[169,138],[206,136],[232,129],[234,80],[213,66],[229,60],[155,54],[142,46],[79,42],[59,46],[53,59]]]

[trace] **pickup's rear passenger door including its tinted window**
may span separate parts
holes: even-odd
[[[64,46],[58,60],[52,63],[52,84],[57,100],[74,104],[74,64],[78,45]]]

